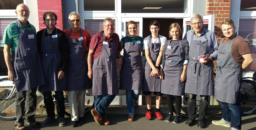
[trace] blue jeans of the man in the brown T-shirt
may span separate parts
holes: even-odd
[[[222,118],[225,121],[231,122],[231,127],[241,130],[242,117],[241,117],[241,104],[240,95],[237,95],[236,104],[224,103],[222,105]]]

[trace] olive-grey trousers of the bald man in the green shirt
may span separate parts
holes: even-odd
[[[35,120],[36,113],[36,88],[18,92],[16,96],[16,121],[15,125],[24,123],[22,116],[25,113],[26,121]],[[26,110],[26,111],[25,111]]]

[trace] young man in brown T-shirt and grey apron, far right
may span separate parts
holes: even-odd
[[[220,26],[225,38],[220,40],[218,49],[214,97],[222,105],[222,119],[213,120],[212,123],[231,127],[231,130],[241,130],[239,90],[242,70],[253,62],[252,52],[249,43],[236,35],[236,27],[232,19],[221,21]]]

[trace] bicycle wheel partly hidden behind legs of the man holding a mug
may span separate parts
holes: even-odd
[[[200,95],[196,96],[196,115],[199,114],[199,104],[200,104]],[[173,112],[176,112],[176,108],[173,108]],[[182,106],[180,115],[182,117],[189,117],[188,115],[188,93],[185,93],[185,96],[182,97]]]

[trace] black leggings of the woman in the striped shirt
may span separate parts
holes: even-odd
[[[181,111],[181,103],[182,103],[182,98],[181,96],[175,96],[175,103],[176,103],[176,115],[180,114]],[[173,113],[173,96],[167,94],[167,104],[168,104],[168,110]]]

